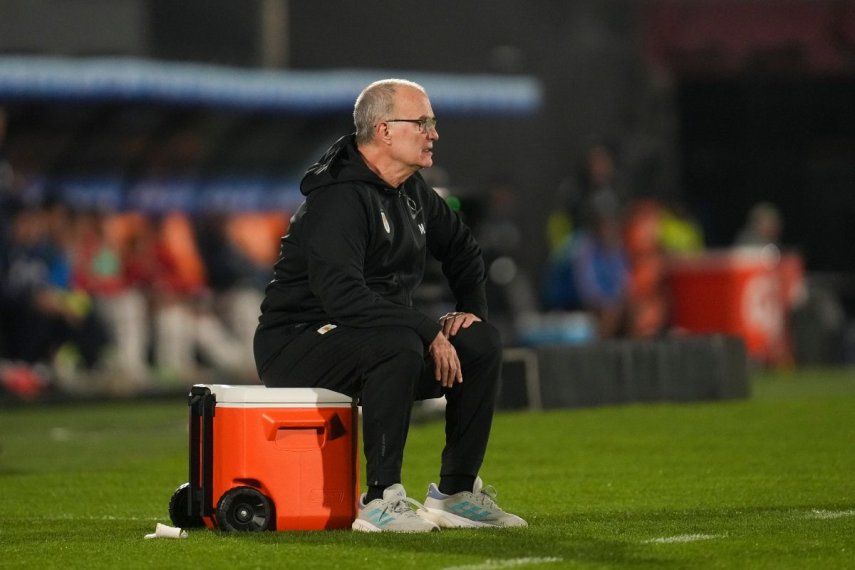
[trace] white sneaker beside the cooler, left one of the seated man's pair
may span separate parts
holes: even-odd
[[[351,528],[361,532],[431,532],[439,527],[427,519],[424,507],[407,497],[400,483],[387,487],[382,499],[365,504],[365,494],[359,499],[359,516]]]

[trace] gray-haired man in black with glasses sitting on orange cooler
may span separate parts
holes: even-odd
[[[478,471],[490,435],[501,343],[486,322],[484,261],[469,229],[425,183],[439,139],[425,90],[377,81],[356,99],[356,133],[309,168],[255,335],[271,387],[359,397],[368,492],[353,529],[525,526],[496,505]],[[456,300],[438,320],[413,308],[428,252]],[[439,485],[425,504],[401,485],[414,400],[444,396]]]

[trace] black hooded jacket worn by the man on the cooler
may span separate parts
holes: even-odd
[[[429,344],[441,327],[412,302],[428,251],[442,262],[457,310],[486,320],[481,249],[419,173],[390,187],[349,135],[309,168],[300,190],[306,201],[282,238],[261,305],[260,368],[305,324],[403,326]]]

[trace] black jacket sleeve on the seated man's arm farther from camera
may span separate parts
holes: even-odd
[[[481,248],[460,217],[427,188],[427,245],[457,301],[456,310],[487,320],[486,270]]]

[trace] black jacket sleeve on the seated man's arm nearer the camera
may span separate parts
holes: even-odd
[[[365,283],[364,260],[370,222],[359,193],[347,186],[319,188],[306,201],[305,224],[309,287],[327,315],[352,327],[403,326],[425,344],[439,323],[383,299]]]

